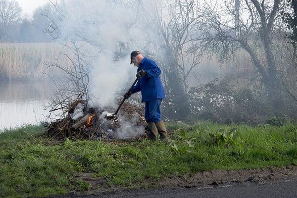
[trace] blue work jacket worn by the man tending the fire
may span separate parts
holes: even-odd
[[[161,69],[153,61],[145,57],[138,69],[145,70],[147,75],[141,77],[137,84],[132,88],[132,93],[141,91],[142,102],[148,102],[154,99],[164,99],[165,92],[160,79]]]

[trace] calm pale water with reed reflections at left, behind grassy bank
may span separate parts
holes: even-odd
[[[0,130],[45,121],[52,89],[49,81],[0,82]]]

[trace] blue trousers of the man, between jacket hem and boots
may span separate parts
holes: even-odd
[[[154,99],[146,102],[145,119],[147,122],[161,121],[161,103],[162,99]]]

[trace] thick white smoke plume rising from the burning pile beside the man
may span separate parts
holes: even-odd
[[[141,50],[141,44],[125,49],[126,56],[114,61],[118,43],[131,44],[131,40],[145,39],[146,31],[139,28],[135,11],[124,3],[110,0],[68,0],[63,8],[67,17],[62,22],[62,38],[88,41],[92,49],[90,75],[93,102],[101,107],[115,107],[115,96],[134,82],[136,68],[130,65],[130,52]],[[125,86],[126,85],[126,86]]]

